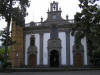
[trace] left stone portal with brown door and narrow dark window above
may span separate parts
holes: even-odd
[[[28,48],[28,65],[29,67],[35,67],[37,63],[37,47],[35,46],[34,35],[30,38],[30,46]]]

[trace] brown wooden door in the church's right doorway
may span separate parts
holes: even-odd
[[[83,57],[81,53],[76,53],[75,55],[75,66],[77,67],[83,66]]]

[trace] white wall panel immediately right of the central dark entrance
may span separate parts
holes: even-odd
[[[61,64],[66,64],[66,34],[65,32],[59,32],[59,38],[61,40]]]

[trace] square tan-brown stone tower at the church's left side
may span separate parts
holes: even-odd
[[[16,25],[14,21],[12,21],[12,33],[11,38],[13,41],[16,41],[15,44],[11,45],[11,51],[9,54],[10,62],[12,67],[20,67],[24,65],[24,31],[23,26]]]

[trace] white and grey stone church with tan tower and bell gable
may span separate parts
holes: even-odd
[[[88,65],[86,37],[81,48],[75,49],[75,37],[71,35],[74,19],[61,17],[58,2],[51,2],[47,19],[30,22],[20,27],[12,22],[10,60],[12,67],[62,67]]]

